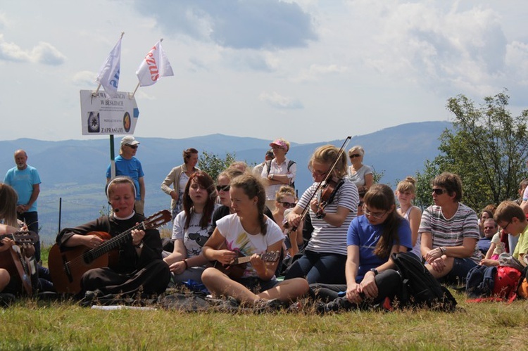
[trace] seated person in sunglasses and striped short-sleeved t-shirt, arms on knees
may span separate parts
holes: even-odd
[[[460,203],[462,181],[457,174],[439,174],[432,186],[434,205],[425,209],[418,229],[425,266],[436,279],[463,283],[482,258],[477,214]]]

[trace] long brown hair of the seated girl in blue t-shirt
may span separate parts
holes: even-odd
[[[398,215],[398,211],[396,211],[394,192],[388,185],[372,184],[367,193],[365,193],[363,201],[369,208],[391,211],[385,222],[383,222],[382,235],[374,248],[374,254],[377,257],[389,257],[394,242],[396,241],[396,244],[400,243],[400,238],[396,234],[398,233],[398,226],[403,220],[403,217]]]

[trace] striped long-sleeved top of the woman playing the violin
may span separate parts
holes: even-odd
[[[301,196],[297,206],[304,208],[308,204],[308,200],[312,196],[319,183],[314,183]],[[317,196],[315,197],[317,198]],[[352,219],[358,215],[359,194],[356,184],[350,181],[344,181],[344,184],[339,187],[336,196],[332,203],[327,205],[325,212],[335,213],[337,207],[348,208],[350,212],[346,216],[345,221],[341,226],[332,226],[323,219],[315,218],[315,213],[310,209],[310,219],[312,220],[313,233],[312,238],[308,241],[307,250],[316,253],[337,253],[339,255],[346,255],[346,232]]]

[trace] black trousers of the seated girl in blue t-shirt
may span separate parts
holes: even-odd
[[[377,298],[370,301],[372,305],[383,302],[385,298],[394,300],[398,298],[402,291],[401,276],[394,269],[387,269],[376,276],[376,285],[378,290]],[[340,292],[346,292],[346,284],[310,284],[310,295],[323,302],[331,302],[344,295]]]

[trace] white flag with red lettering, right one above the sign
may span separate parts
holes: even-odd
[[[172,67],[170,67],[169,60],[165,51],[161,47],[161,41],[146,54],[144,60],[136,72],[141,87],[148,87],[156,82],[161,77],[168,77],[174,75]]]

